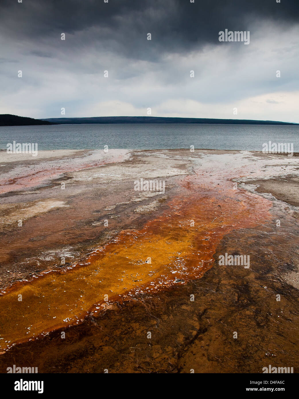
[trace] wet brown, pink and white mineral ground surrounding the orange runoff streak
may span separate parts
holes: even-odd
[[[280,201],[277,192],[274,198],[269,186],[268,191],[254,194],[257,182],[268,179],[283,181],[281,191],[287,192],[285,184],[293,187],[297,168],[296,157],[290,160],[259,153],[134,152],[125,160],[89,165],[87,170],[63,172],[46,183],[39,182],[33,185],[35,194],[25,194],[24,190],[3,194],[0,273],[1,288],[6,292],[16,280],[59,269],[61,254],[70,255],[69,259],[66,256],[70,265],[82,261],[90,251],[116,239],[122,230],[141,231],[163,213],[173,215],[173,223],[175,213],[182,223],[189,220],[192,212],[187,207],[181,213],[176,208],[183,201],[196,207],[199,214],[194,219],[198,223],[203,220],[191,245],[203,248],[199,246],[203,237],[213,241],[215,235],[217,239],[208,246],[211,260],[207,258],[209,265],[201,278],[195,278],[194,270],[186,270],[183,278],[180,272],[180,278],[162,279],[152,293],[136,287],[127,290],[104,302],[98,314],[87,314],[79,324],[55,328],[10,347],[0,356],[0,371],[17,364],[38,367],[39,372],[260,373],[271,364],[294,367],[297,372],[297,207],[294,202]],[[132,190],[132,180],[140,177],[165,179],[163,201],[144,198]],[[62,180],[72,189],[61,190]],[[234,181],[238,181],[237,190]],[[277,191],[279,186],[275,186]],[[42,207],[49,200],[68,206],[45,211]],[[38,202],[42,202],[39,212],[32,215],[32,203]],[[29,207],[30,217],[23,226],[26,230],[17,229],[14,217]],[[231,212],[236,212],[236,224],[229,222]],[[103,219],[109,220],[108,229],[104,229]],[[173,231],[175,242],[184,236],[183,231],[182,235],[177,229]],[[220,266],[218,257],[225,253],[250,255],[250,268]],[[198,264],[203,254],[197,253]],[[190,267],[188,262],[186,265]],[[161,279],[161,269],[157,273]],[[2,293],[2,298],[6,295]],[[3,320],[1,317],[0,336],[6,328]]]

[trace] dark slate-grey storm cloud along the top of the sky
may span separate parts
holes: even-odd
[[[218,32],[250,30],[257,20],[298,23],[298,0],[2,0],[2,35],[34,43],[64,32],[90,30],[84,43],[106,45],[125,57],[156,61],[163,52],[186,53],[206,44],[217,44]],[[93,28],[93,29],[92,29]],[[145,47],[146,34],[152,35]],[[251,37],[254,32],[251,32]],[[65,43],[76,47],[76,43]],[[237,43],[240,44],[240,43]],[[41,49],[39,49],[41,50]]]

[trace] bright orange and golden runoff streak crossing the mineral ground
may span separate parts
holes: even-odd
[[[190,181],[185,180],[190,186]],[[0,296],[0,348],[98,314],[105,301],[199,278],[222,237],[271,218],[271,202],[230,188],[196,188],[139,231],[123,231],[84,265],[19,282]],[[194,226],[193,222],[194,221]],[[22,295],[22,301],[18,300]],[[108,297],[107,297],[108,296]]]

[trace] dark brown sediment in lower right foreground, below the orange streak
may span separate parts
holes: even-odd
[[[262,373],[271,364],[298,373],[299,291],[279,277],[294,243],[272,229],[226,235],[201,279],[119,299],[82,324],[14,346],[0,372],[16,364],[39,373]],[[250,254],[250,269],[218,265],[218,255],[236,250]]]

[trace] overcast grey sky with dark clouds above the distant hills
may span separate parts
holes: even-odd
[[[299,122],[299,0],[1,0],[0,48],[0,113]]]

